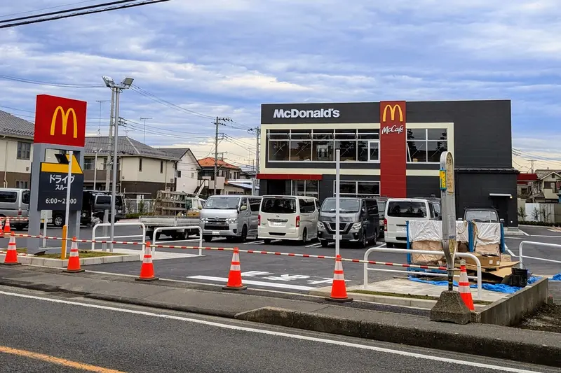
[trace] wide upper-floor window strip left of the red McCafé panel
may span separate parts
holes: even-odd
[[[378,129],[269,129],[269,161],[379,162]]]

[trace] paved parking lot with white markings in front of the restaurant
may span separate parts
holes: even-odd
[[[518,255],[518,247],[522,241],[561,244],[561,230],[555,230],[547,227],[522,227],[522,230],[528,235],[508,236],[506,238],[508,249],[515,255]],[[48,229],[48,234],[58,237],[61,234],[61,230],[55,228]],[[140,234],[140,230],[135,227],[118,227],[116,229],[116,236],[137,234]],[[81,237],[90,239],[91,227],[82,227]],[[135,237],[122,238],[122,240],[140,241],[141,239],[140,237]],[[18,241],[20,240],[18,239]],[[173,241],[172,239],[163,236],[161,237],[161,241],[181,246],[198,245],[198,239],[196,238],[184,241]],[[60,245],[60,241],[50,242],[53,246],[56,244]],[[0,239],[0,247],[6,247],[7,244],[6,239]],[[25,244],[18,244],[18,246],[22,245]],[[252,240],[244,244],[237,244],[227,242],[224,239],[215,239],[210,243],[204,243],[204,246],[229,248],[237,246],[243,250],[306,253],[311,255],[334,255],[334,246],[322,248],[318,242],[311,242],[306,244],[306,246],[300,246],[298,244],[286,244],[281,241],[273,241],[271,244],[265,245],[261,240]],[[384,241],[379,241],[376,246],[385,247]],[[90,245],[80,244],[80,247],[90,248]],[[100,248],[100,245],[98,244],[96,248]],[[138,247],[128,246],[128,248]],[[191,255],[198,253],[196,250],[158,249],[154,255],[156,259],[158,258],[158,252],[160,251],[172,253],[180,252]],[[344,246],[342,247],[341,253],[344,258],[363,259],[365,249],[354,248],[353,246]],[[223,285],[227,281],[231,252],[203,251],[204,256],[202,258],[192,257],[191,255],[186,255],[183,258],[156,260],[156,275],[165,279],[198,281],[204,283],[214,283],[217,285]],[[541,248],[528,244],[527,246],[524,246],[524,255],[534,256],[536,258],[561,260],[561,249]],[[398,263],[407,262],[404,254],[393,253],[372,253],[372,255],[370,255],[370,260]],[[524,262],[534,274],[551,276],[561,272],[561,265],[558,265],[557,263],[542,262],[532,259],[527,259]],[[266,288],[270,290],[306,293],[312,288],[320,288],[330,285],[333,277],[334,263],[332,260],[242,253],[241,268],[243,272],[243,279],[248,286]],[[397,269],[393,267],[379,268]],[[100,272],[112,272],[137,276],[140,271],[140,264],[138,262],[114,263],[88,266],[88,269]],[[348,281],[349,285],[358,285],[363,283],[363,265],[344,262],[344,272],[345,279]],[[391,272],[369,272],[368,276],[369,281],[381,281],[391,279],[393,276],[403,275]],[[555,286],[553,286],[553,288],[555,288]]]

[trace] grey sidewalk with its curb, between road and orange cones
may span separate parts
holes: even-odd
[[[387,308],[393,312],[378,311],[373,308],[379,305],[361,302],[334,305],[320,297],[287,299],[276,293],[230,293],[196,283],[139,283],[130,276],[65,274],[58,269],[26,266],[0,267],[0,285],[561,367],[561,337],[557,333],[434,323],[425,313],[406,314],[400,307]]]

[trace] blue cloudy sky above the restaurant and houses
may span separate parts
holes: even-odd
[[[0,22],[105,1],[1,1]],[[219,151],[251,164],[264,102],[512,99],[513,165],[561,169],[560,17],[558,0],[172,0],[0,29],[0,109],[84,99],[88,133],[107,134],[101,76],[131,76],[129,136],[153,118],[146,143],[203,157],[229,117]]]

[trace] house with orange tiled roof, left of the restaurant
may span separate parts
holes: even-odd
[[[229,188],[225,188],[228,180],[240,178],[240,167],[224,162],[224,160],[218,160],[217,176],[215,177],[215,159],[213,157],[206,157],[202,160],[198,160],[198,164],[201,165],[201,171],[198,173],[198,178],[200,180],[208,181],[208,188],[203,189],[203,195],[214,195],[215,188],[217,195],[245,194],[245,189],[243,188],[237,188],[231,185]]]

